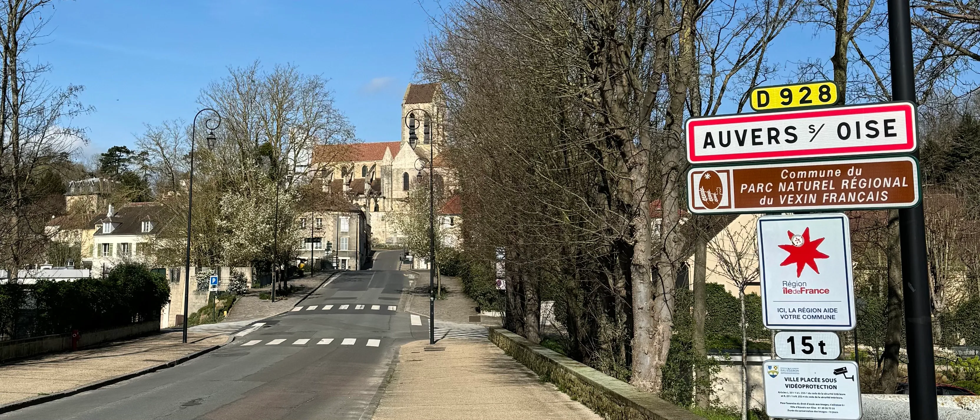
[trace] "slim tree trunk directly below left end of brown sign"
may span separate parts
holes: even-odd
[[[705,320],[708,317],[708,304],[705,296],[705,278],[708,274],[708,241],[704,234],[699,232],[694,244],[694,331],[691,333],[691,344],[695,353],[702,361],[708,358],[708,349],[705,348]],[[711,376],[705,369],[702,361],[699,361],[694,371],[695,376],[695,403],[699,407],[708,408],[711,406]]]

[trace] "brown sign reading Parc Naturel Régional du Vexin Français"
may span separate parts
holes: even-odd
[[[698,166],[687,172],[695,213],[907,208],[919,202],[909,157]]]

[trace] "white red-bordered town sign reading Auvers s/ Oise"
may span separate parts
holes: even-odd
[[[918,147],[910,102],[690,118],[690,163],[904,154]]]

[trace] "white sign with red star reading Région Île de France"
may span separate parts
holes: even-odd
[[[854,329],[851,227],[847,215],[761,216],[758,232],[765,328]]]

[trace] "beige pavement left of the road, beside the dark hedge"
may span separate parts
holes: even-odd
[[[188,334],[183,344],[181,336],[180,331],[168,332],[0,364],[0,412],[11,402],[153,368],[228,340],[227,335]]]

